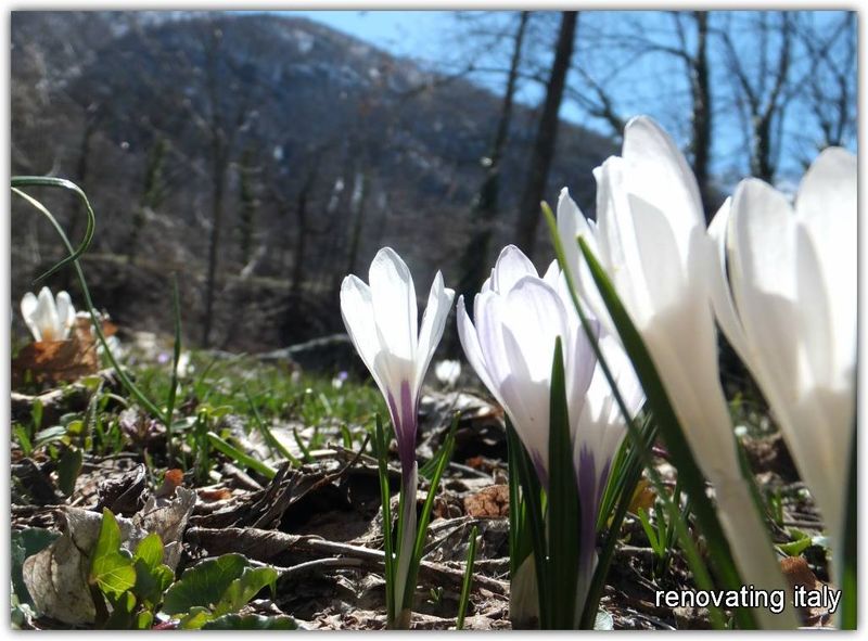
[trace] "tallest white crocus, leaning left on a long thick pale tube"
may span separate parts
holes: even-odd
[[[604,326],[611,320],[584,259],[585,238],[612,280],[654,361],[690,449],[714,485],[722,526],[742,579],[757,588],[784,584],[741,473],[732,422],[720,387],[712,313],[714,242],[695,178],[672,139],[650,118],[634,118],[621,156],[595,170],[597,223],[564,190],[558,204],[574,277]],[[791,611],[755,611],[764,627],[796,625]]]

